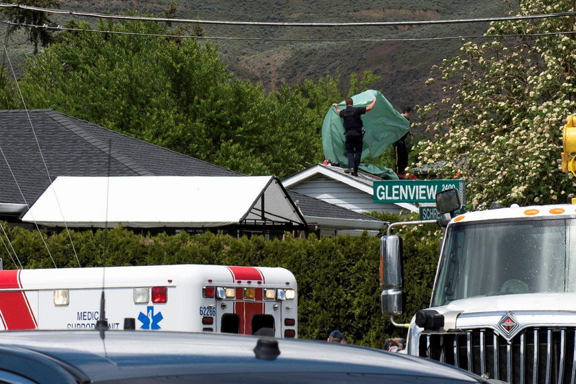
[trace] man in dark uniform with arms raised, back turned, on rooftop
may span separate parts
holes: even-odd
[[[352,176],[358,176],[358,166],[362,156],[362,119],[361,115],[374,108],[376,98],[372,103],[365,107],[355,107],[351,97],[346,99],[346,109],[339,110],[338,104],[332,104],[336,108],[336,113],[344,119],[344,136],[346,136],[346,154],[348,155],[348,169],[346,173],[352,173]]]

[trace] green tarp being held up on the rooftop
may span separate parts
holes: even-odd
[[[361,160],[368,156],[377,158],[394,141],[404,136],[410,128],[409,121],[400,115],[400,112],[395,110],[392,104],[379,91],[370,89],[352,96],[352,100],[354,100],[355,107],[361,107],[368,106],[374,97],[376,97],[374,108],[362,115],[363,129],[366,133],[364,135]],[[338,104],[338,108],[343,110],[346,108],[346,103],[341,101]],[[326,117],[324,117],[324,123],[322,123],[322,147],[324,147],[324,158],[348,165],[348,157],[344,148],[344,125],[342,125],[342,119],[336,113],[334,106],[330,107]],[[368,165],[364,165],[360,169],[364,169],[366,166]],[[384,167],[379,168],[382,169]],[[383,174],[394,173],[392,169],[388,170],[384,171]],[[396,175],[394,174],[394,176]],[[389,178],[394,178],[394,176]]]

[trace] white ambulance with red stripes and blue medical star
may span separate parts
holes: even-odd
[[[298,336],[291,272],[224,265],[2,270],[0,330],[95,328],[103,288],[112,329]]]

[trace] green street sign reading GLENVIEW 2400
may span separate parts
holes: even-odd
[[[465,202],[466,182],[455,180],[376,180],[372,184],[375,203],[431,203],[436,193],[455,188],[460,193],[461,203]]]

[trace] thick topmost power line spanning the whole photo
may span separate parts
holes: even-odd
[[[477,19],[444,19],[444,20],[420,20],[420,21],[376,21],[371,23],[280,23],[273,21],[224,21],[224,20],[201,20],[201,19],[169,19],[167,17],[147,16],[124,16],[118,14],[99,14],[94,12],[80,12],[73,10],[56,10],[51,8],[32,7],[30,5],[0,3],[0,8],[19,8],[22,10],[34,10],[53,14],[70,14],[73,16],[93,17],[98,19],[117,19],[134,21],[156,21],[162,23],[187,23],[187,24],[212,24],[212,25],[250,25],[261,27],[389,27],[398,25],[433,25],[433,24],[457,24],[457,23],[489,23],[492,21],[518,21],[549,19],[563,16],[576,16],[576,12],[556,12],[551,14],[533,14],[524,16],[499,16],[484,17]]]

